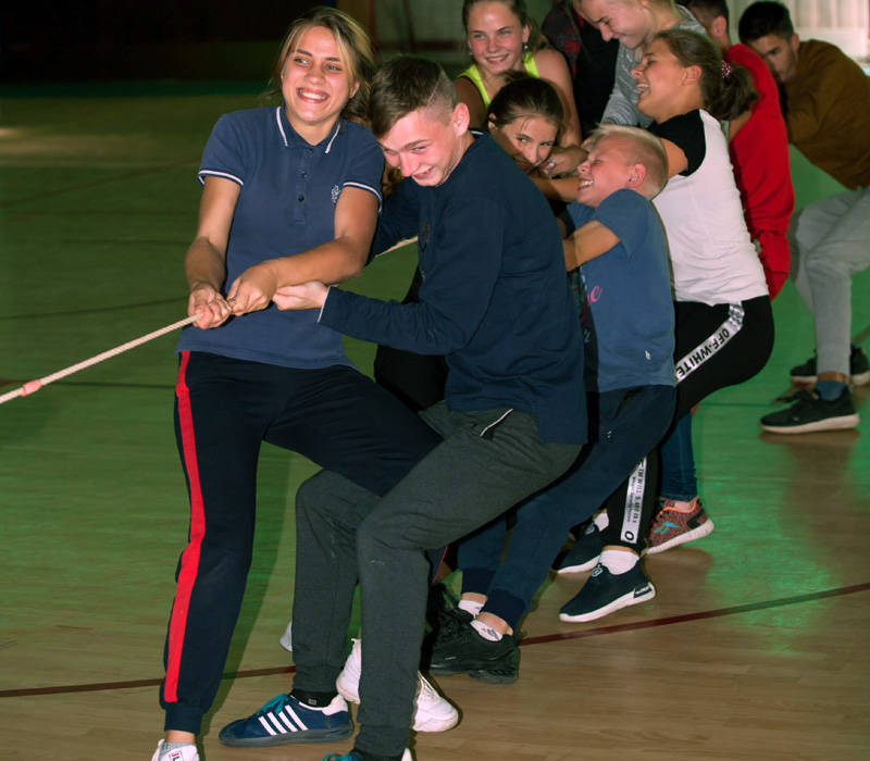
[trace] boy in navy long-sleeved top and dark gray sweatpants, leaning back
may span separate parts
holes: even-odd
[[[294,691],[328,702],[359,575],[360,732],[346,761],[410,759],[426,547],[449,544],[558,477],[585,438],[583,348],[561,239],[543,196],[488,136],[468,132],[437,64],[398,58],[372,86],[372,129],[406,180],[374,250],[419,235],[420,301],[321,283],[286,309],[371,341],[444,354],[446,398],[421,415],[444,441],[385,497],[330,471],[297,495]],[[268,707],[266,707],[268,708]],[[259,714],[224,733],[259,732]],[[223,734],[223,733],[222,733]]]

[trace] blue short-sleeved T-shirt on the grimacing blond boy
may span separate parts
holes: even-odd
[[[623,188],[597,209],[570,203],[576,227],[596,220],[619,238],[571,273],[582,276],[587,309],[586,385],[598,391],[673,386],[673,301],[664,229],[652,204]],[[580,288],[580,284],[576,284]]]

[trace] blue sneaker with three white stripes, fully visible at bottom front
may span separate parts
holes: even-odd
[[[288,743],[331,743],[352,734],[353,723],[340,695],[326,708],[310,708],[291,695],[278,695],[252,716],[227,724],[217,739],[231,748],[259,748]]]

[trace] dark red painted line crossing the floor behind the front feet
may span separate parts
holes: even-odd
[[[810,592],[808,595],[795,595],[794,597],[781,597],[775,600],[763,600],[761,602],[749,602],[745,606],[732,606],[730,608],[718,608],[716,610],[697,611],[695,613],[684,613],[683,615],[669,615],[662,619],[651,619],[649,621],[635,621],[630,624],[613,624],[611,626],[596,626],[580,632],[566,632],[563,634],[546,634],[539,637],[525,637],[521,646],[543,645],[545,643],[556,643],[564,639],[583,639],[584,637],[598,637],[605,634],[618,634],[620,632],[633,632],[642,628],[652,628],[655,626],[670,626],[688,621],[703,621],[705,619],[721,619],[728,615],[738,615],[757,610],[769,608],[782,608],[783,606],[796,606],[803,602],[813,602],[829,597],[843,597],[860,591],[870,590],[870,582],[863,584],[853,584],[848,587],[837,587],[835,589],[824,589],[822,591]],[[247,678],[250,676],[272,676],[275,674],[291,674],[296,671],[295,666],[278,666],[272,669],[250,669],[224,674],[224,679]],[[157,687],[162,679],[134,679],[129,682],[98,682],[83,685],[60,685],[57,687],[32,687],[25,689],[3,689],[0,690],[0,698],[24,698],[40,695],[61,695],[64,693],[99,693],[113,689],[135,689],[137,687]]]

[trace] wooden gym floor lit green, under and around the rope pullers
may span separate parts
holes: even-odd
[[[234,91],[235,90],[235,91]],[[5,88],[0,123],[0,392],[184,316],[182,257],[211,125],[254,88]],[[800,204],[834,185],[795,157]],[[412,253],[358,287],[403,294]],[[870,335],[870,273],[853,333]],[[857,431],[760,433],[812,351],[790,284],[751,382],[706,401],[695,438],[716,532],[646,561],[647,604],[561,624],[581,578],[548,584],[524,623],[520,681],[440,681],[461,724],[420,761],[870,758],[870,408]],[[0,407],[3,759],[150,758],[187,506],[172,433],[174,337]],[[372,347],[349,342],[359,365]],[[265,446],[254,565],[203,761],[301,761],[350,744],[222,748],[224,723],[287,689],[293,497],[313,472]]]

